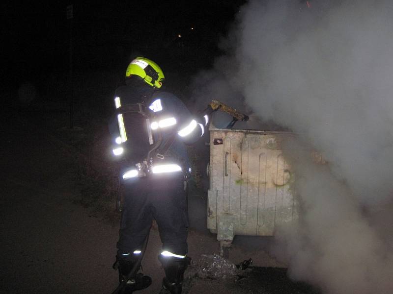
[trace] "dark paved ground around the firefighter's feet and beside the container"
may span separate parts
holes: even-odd
[[[117,286],[112,263],[118,225],[72,203],[78,193],[71,164],[76,151],[17,112],[2,115],[2,120],[0,293],[111,293]],[[191,191],[192,263],[184,293],[316,293],[287,278],[285,265],[264,250],[269,241],[253,239],[250,244],[238,238],[229,261],[215,255],[216,236],[204,229],[204,215],[198,213],[204,209],[204,199],[200,191]],[[142,262],[153,284],[137,293],[160,292],[164,275],[157,260],[160,247],[153,227]],[[248,269],[235,267],[250,258],[253,264]]]

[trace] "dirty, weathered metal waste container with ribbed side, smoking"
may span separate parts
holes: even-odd
[[[227,257],[234,235],[273,236],[299,216],[281,142],[289,132],[210,127],[207,227]]]

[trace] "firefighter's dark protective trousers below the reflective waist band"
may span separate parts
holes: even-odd
[[[124,206],[118,260],[135,260],[153,218],[157,221],[163,250],[186,255],[188,251],[187,198],[182,172],[152,174],[124,183]]]

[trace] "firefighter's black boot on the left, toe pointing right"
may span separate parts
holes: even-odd
[[[119,270],[119,283],[122,283],[135,266],[135,262],[128,260],[119,260],[117,263]],[[140,268],[138,270],[140,270]],[[138,270],[136,270],[136,272],[138,272]],[[121,293],[129,294],[133,293],[134,291],[146,289],[151,285],[151,282],[151,278],[147,275],[143,275],[143,273],[141,272],[133,274],[128,279],[127,284],[123,288],[123,291]]]

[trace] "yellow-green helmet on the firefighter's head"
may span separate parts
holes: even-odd
[[[161,88],[165,78],[162,69],[154,61],[144,57],[137,57],[128,65],[126,78],[132,74],[140,76],[155,88]]]

